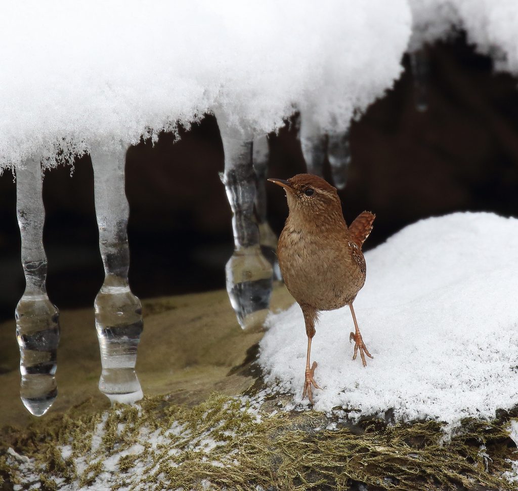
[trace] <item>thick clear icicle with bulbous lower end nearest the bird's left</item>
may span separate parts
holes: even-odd
[[[268,313],[273,271],[261,252],[254,217],[252,135],[228,128],[224,114],[216,116],[225,153],[222,181],[233,212],[235,250],[225,268],[228,297],[243,329],[261,328]]]

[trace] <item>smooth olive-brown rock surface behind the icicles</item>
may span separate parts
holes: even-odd
[[[280,310],[292,302],[285,288],[278,286],[271,308]],[[238,395],[253,384],[253,378],[238,367],[247,360],[247,352],[253,352],[262,333],[242,331],[226,291],[143,300],[142,312],[137,375],[145,395],[167,393],[176,403],[193,405],[214,391]],[[108,399],[97,388],[100,356],[93,308],[63,311],[60,322],[58,397],[47,414],[63,413],[86,400],[92,411],[109,408]],[[0,325],[0,427],[26,427],[37,419],[25,410],[19,397],[15,330],[14,319]],[[233,374],[227,376],[232,369]]]

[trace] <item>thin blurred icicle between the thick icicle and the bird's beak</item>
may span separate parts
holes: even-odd
[[[266,171],[268,169],[268,136],[254,138],[252,145],[252,161],[257,178],[257,194],[255,195],[255,215],[259,228],[259,242],[263,255],[274,269],[275,279],[281,280],[281,270],[277,262],[277,235],[271,230],[266,220]]]

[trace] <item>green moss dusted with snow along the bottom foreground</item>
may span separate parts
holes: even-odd
[[[492,422],[464,420],[451,441],[443,443],[443,425],[437,422],[391,426],[370,419],[352,429],[337,423],[336,430],[315,430],[329,423],[322,413],[270,416],[272,405],[264,404],[263,409],[257,422],[254,414],[243,410],[240,399],[218,394],[193,408],[161,397],[146,398],[139,408],[118,406],[104,416],[85,415],[76,408],[19,435],[16,450],[34,457],[41,474],[77,480],[83,486],[95,482],[105,458],[131,452],[140,443],[144,452],[118,459],[113,489],[143,483],[159,489],[202,489],[202,481],[214,489],[238,490],[256,485],[300,491],[348,489],[355,481],[401,491],[462,486],[515,489],[501,478],[510,470],[507,459],[518,459],[506,429],[515,414],[500,415]],[[104,433],[92,451],[98,425]],[[142,431],[156,432],[162,441],[152,448],[146,437],[139,438]],[[73,458],[65,461],[56,441],[71,445]],[[80,457],[86,468],[78,474],[75,459]],[[136,462],[145,467],[141,477],[133,472]],[[7,467],[1,457],[0,475],[20,482],[19,469]],[[42,484],[51,489],[48,477]]]

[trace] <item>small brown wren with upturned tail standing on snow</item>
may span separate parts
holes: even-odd
[[[313,404],[313,387],[321,387],[314,378],[318,363],[310,366],[311,340],[320,312],[349,305],[355,328],[349,335],[349,342],[354,340],[352,359],[358,350],[364,367],[365,355],[373,358],[363,342],[353,302],[365,284],[362,246],[376,215],[363,212],[348,227],[337,190],[325,179],[297,174],[288,180],[268,180],[286,192],[289,215],[279,237],[277,258],[284,284],[304,314],[308,350],[302,398],[307,394]]]

